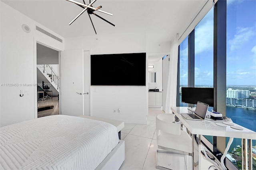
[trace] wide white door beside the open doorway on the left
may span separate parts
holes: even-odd
[[[61,114],[84,113],[84,51],[61,51]]]

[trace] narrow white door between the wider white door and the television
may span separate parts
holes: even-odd
[[[90,116],[90,51],[84,51],[84,115]]]

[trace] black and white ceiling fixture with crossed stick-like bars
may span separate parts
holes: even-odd
[[[108,24],[111,24],[112,26],[115,26],[114,24],[112,24],[112,23],[109,22],[108,20],[105,20],[105,19],[102,18],[101,16],[99,16],[99,15],[97,15],[97,14],[94,13],[94,11],[98,11],[98,12],[102,12],[102,13],[104,13],[104,14],[108,14],[108,15],[110,15],[110,16],[113,16],[113,14],[110,14],[110,13],[108,13],[108,12],[105,12],[105,11],[100,10],[100,8],[102,8],[102,6],[98,6],[97,8],[94,8],[94,7],[92,6],[92,4],[93,4],[96,0],[93,0],[92,2],[91,2],[91,0],[90,0],[90,3],[89,3],[88,5],[85,4],[84,0],[83,0],[84,4],[82,4],[82,3],[80,3],[80,2],[76,2],[76,1],[74,1],[74,0],[67,0],[67,1],[73,2],[74,4],[80,6],[81,8],[84,8],[84,10],[82,10],[82,12],[80,12],[80,13],[78,14],[78,16],[76,16],[76,17],[74,18],[74,20],[72,20],[68,25],[71,25],[79,16],[81,16],[81,15],[87,10],[87,13],[88,13],[88,16],[89,16],[89,18],[90,18],[90,20],[91,20],[91,23],[92,23],[92,18],[91,18],[90,15],[91,15],[91,14],[94,14],[94,15],[97,16],[98,18],[100,18],[100,19],[106,21]],[[93,29],[94,29],[94,31],[95,31],[95,34],[97,34],[97,32],[96,32],[96,30],[95,30],[95,28],[94,28],[93,23],[92,23],[92,26],[93,26]]]

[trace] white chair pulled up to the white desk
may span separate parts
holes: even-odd
[[[186,127],[175,123],[174,114],[160,114],[156,116],[156,135],[158,152],[186,154],[192,156],[192,139]],[[168,169],[156,165],[158,169]]]

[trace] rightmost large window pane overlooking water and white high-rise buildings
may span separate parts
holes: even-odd
[[[256,131],[255,0],[227,0],[226,61],[226,115],[234,123]],[[256,169],[255,140],[252,146]],[[234,139],[229,154],[241,169],[241,139]]]

